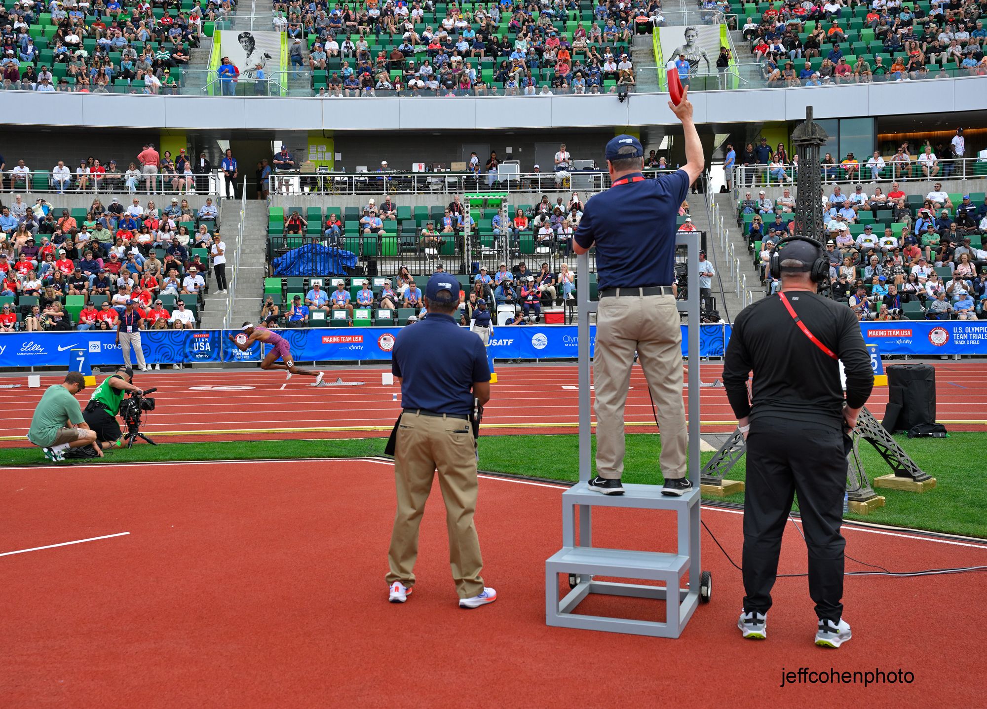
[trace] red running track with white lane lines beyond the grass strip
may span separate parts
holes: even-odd
[[[937,369],[937,416],[950,430],[987,430],[987,363],[940,362]],[[400,410],[397,386],[385,387],[382,369],[326,369],[327,380],[365,382],[362,386],[310,386],[311,377],[295,376],[285,382],[279,372],[253,370],[155,371],[139,374],[145,388],[160,387],[154,395],[158,408],[147,418],[151,435],[182,435],[184,439],[358,437],[389,433]],[[719,363],[704,364],[700,376],[713,382],[721,376]],[[490,433],[574,433],[578,422],[574,365],[501,366],[487,406],[484,426]],[[28,389],[26,378],[17,389],[0,389],[0,410],[7,420],[7,436],[0,445],[27,445],[24,434],[31,424],[43,388],[61,377],[42,377],[41,389]],[[191,387],[252,387],[243,390]],[[565,388],[569,387],[569,388]],[[629,431],[654,431],[645,377],[635,366],[625,420]],[[685,390],[688,391],[688,390]],[[83,394],[87,398],[87,394]],[[733,415],[721,388],[700,391],[703,430],[730,431]],[[534,406],[532,406],[532,403]],[[868,404],[881,418],[887,389],[874,389]]]

